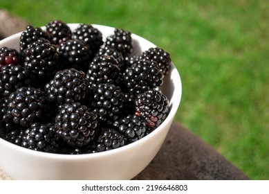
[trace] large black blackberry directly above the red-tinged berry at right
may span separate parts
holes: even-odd
[[[131,94],[141,94],[163,84],[163,73],[156,62],[139,60],[124,72],[124,82]]]

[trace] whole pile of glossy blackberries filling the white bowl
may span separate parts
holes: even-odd
[[[128,30],[103,37],[91,24],[29,25],[18,51],[0,48],[0,138],[66,155],[138,141],[169,114],[158,87],[170,66],[162,48],[134,55]]]

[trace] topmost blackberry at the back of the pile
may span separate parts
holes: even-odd
[[[60,20],[49,21],[45,25],[45,32],[51,36],[50,42],[58,45],[72,38],[72,32],[69,26]]]

